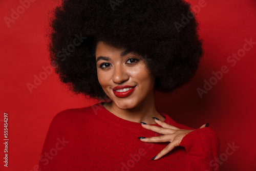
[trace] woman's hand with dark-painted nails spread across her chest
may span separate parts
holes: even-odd
[[[154,118],[155,119],[155,118]],[[159,119],[155,119],[155,122],[162,126],[155,126],[155,125],[150,125],[150,124],[141,124],[144,129],[154,131],[158,134],[162,134],[162,136],[158,137],[150,137],[150,138],[144,138],[144,137],[139,137],[139,139],[142,142],[170,142],[158,155],[156,155],[152,160],[158,160],[170,151],[174,149],[176,146],[180,146],[181,140],[190,132],[194,130],[181,130],[178,127],[169,125],[163,121],[160,121]],[[209,124],[204,124],[200,127],[208,127]]]

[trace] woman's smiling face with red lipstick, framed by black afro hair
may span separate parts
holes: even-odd
[[[119,109],[136,108],[154,98],[155,76],[140,55],[100,41],[95,56],[99,83]]]

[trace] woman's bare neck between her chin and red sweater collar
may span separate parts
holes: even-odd
[[[113,101],[105,103],[103,106],[117,117],[132,122],[156,124],[153,117],[156,117],[161,121],[164,121],[165,119],[155,108],[154,93],[132,109],[120,109]]]

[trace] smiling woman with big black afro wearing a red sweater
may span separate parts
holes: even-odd
[[[73,92],[101,102],[54,117],[39,169],[218,170],[209,124],[178,124],[154,104],[155,91],[194,76],[197,29],[181,0],[63,1],[51,20],[52,65]]]

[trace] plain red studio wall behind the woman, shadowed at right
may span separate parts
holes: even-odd
[[[191,82],[172,94],[156,94],[157,110],[190,127],[209,122],[220,138],[216,160],[221,170],[256,170],[256,2],[189,2],[197,13],[205,54]],[[73,95],[52,72],[45,27],[48,10],[55,4],[0,1],[0,170],[37,170],[52,118],[62,110],[97,103]],[[44,79],[35,85],[40,77]],[[30,90],[28,83],[35,88]],[[4,166],[4,113],[8,114],[8,167]]]

